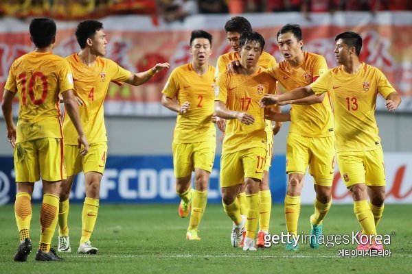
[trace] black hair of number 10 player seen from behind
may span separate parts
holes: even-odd
[[[50,18],[34,18],[30,22],[30,36],[34,45],[40,49],[52,44],[56,30],[56,23]]]

